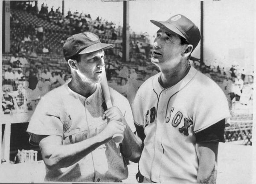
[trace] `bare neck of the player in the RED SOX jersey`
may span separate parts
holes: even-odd
[[[160,69],[161,75],[158,81],[163,88],[172,87],[180,82],[186,76],[186,74],[188,74],[189,69],[189,62],[180,62],[177,66],[175,66],[175,68]]]

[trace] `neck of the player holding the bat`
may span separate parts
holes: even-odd
[[[72,77],[70,83],[68,83],[68,87],[75,91],[76,93],[88,98],[96,91],[96,84],[92,84],[89,82],[82,82],[81,80]]]

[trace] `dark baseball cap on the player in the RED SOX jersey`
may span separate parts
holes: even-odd
[[[181,14],[174,15],[166,21],[150,21],[154,25],[157,25],[157,27],[167,28],[168,30],[185,38],[189,44],[193,45],[193,50],[201,39],[198,27],[191,20]]]

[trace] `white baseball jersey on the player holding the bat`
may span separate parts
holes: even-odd
[[[113,106],[118,107],[134,132],[133,116],[128,100],[110,88]],[[29,122],[30,142],[38,144],[38,135],[59,135],[63,144],[72,144],[99,134],[107,125],[102,119],[102,91],[85,98],[67,84],[47,93],[38,103]],[[115,182],[128,177],[127,165],[119,148],[111,140],[67,168],[47,170],[45,181]]]

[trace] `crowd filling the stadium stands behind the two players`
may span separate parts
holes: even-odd
[[[106,75],[109,86],[126,96],[131,105],[140,85],[159,72],[150,62],[151,45],[141,35],[132,34],[130,61],[122,62],[122,27],[116,28],[111,21],[99,17],[92,20],[90,14],[77,11],[71,13],[70,10],[64,17],[60,7],[55,11],[51,7],[51,11],[48,11],[47,4],[44,3],[40,11],[30,2],[17,2],[15,6],[12,5],[12,10],[11,52],[3,54],[2,68],[2,109],[6,114],[34,110],[44,94],[70,81],[70,71],[63,58],[62,45],[69,35],[81,31],[92,31],[99,35],[102,42],[116,44],[115,49],[107,50],[105,54]],[[58,25],[64,32],[45,27],[46,24],[42,23],[46,22],[26,22],[23,16],[29,14],[33,14],[32,18],[38,21],[44,20],[50,25]],[[56,38],[54,41],[54,37],[58,41]],[[223,68],[201,65],[193,57],[190,63],[218,83],[230,101],[230,108],[234,101],[244,105],[249,105],[252,101],[253,76],[245,75],[243,70],[239,71],[238,66]],[[225,137],[232,141],[243,139],[248,134],[236,130],[226,132]]]

